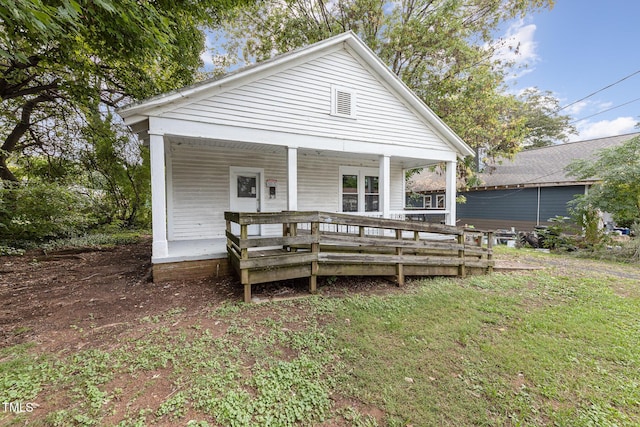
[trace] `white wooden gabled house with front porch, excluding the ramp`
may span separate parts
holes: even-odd
[[[155,265],[226,259],[229,210],[397,217],[404,171],[436,163],[446,202],[425,213],[453,225],[456,162],[473,155],[352,32],[119,114],[150,146]]]

